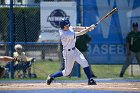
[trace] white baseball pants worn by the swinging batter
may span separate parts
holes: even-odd
[[[63,57],[65,61],[65,69],[62,71],[63,76],[68,76],[71,73],[75,61],[79,63],[82,68],[89,66],[84,55],[77,48],[74,50],[71,49],[70,51],[63,50]]]

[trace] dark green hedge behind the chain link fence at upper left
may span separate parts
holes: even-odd
[[[0,8],[1,40],[9,42],[10,37],[10,10]],[[40,10],[37,7],[15,7],[13,9],[13,31],[15,42],[35,42],[40,34]]]

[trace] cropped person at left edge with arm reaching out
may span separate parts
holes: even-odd
[[[9,61],[12,61],[12,60],[14,60],[13,57],[9,57],[9,56],[0,56],[0,61],[1,61],[1,62],[9,62]],[[0,66],[0,78],[3,77],[4,72],[5,72],[5,68],[2,67],[2,66]]]

